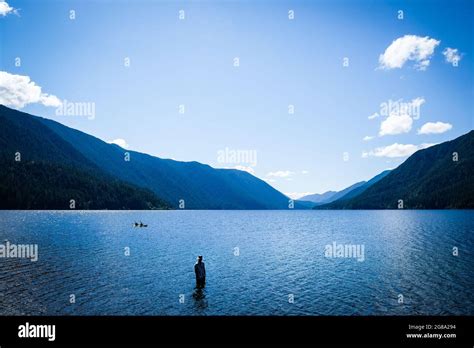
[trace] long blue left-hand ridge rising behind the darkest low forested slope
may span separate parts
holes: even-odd
[[[175,208],[182,200],[186,209],[288,209],[288,197],[244,171],[124,150],[58,122],[4,106],[0,106],[0,116],[0,138],[7,145],[2,152],[9,159],[21,150],[25,156],[46,163],[95,170],[150,190]],[[16,129],[9,135],[4,123]],[[37,138],[34,143],[28,141],[32,137]],[[125,160],[127,155],[129,161]],[[305,206],[296,202],[295,208]]]

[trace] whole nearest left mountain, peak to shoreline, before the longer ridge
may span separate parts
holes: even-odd
[[[0,106],[0,209],[164,209],[107,175],[38,120]],[[17,160],[15,160],[17,159]]]

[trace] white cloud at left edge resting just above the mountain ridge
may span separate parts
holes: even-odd
[[[31,81],[29,76],[0,71],[0,104],[21,109],[33,103],[52,107],[62,104],[58,97],[43,93],[41,87]]]

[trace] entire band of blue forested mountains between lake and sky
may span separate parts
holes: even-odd
[[[0,105],[0,209],[289,209],[251,174],[125,150]],[[19,153],[21,161],[15,161]],[[130,156],[130,161],[125,160]],[[455,158],[456,157],[456,158]],[[474,208],[474,131],[417,151],[394,170],[296,209]]]

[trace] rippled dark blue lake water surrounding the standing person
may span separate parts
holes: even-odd
[[[0,243],[39,247],[37,262],[0,258],[3,315],[474,314],[473,211],[0,211],[0,223]],[[365,260],[325,257],[333,242],[363,245]]]

